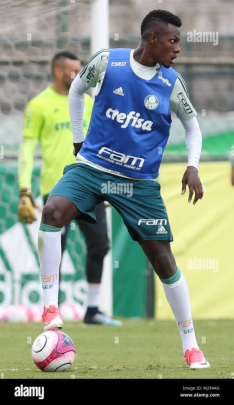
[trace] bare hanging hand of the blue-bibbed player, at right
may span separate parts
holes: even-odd
[[[198,176],[198,171],[193,166],[188,166],[186,172],[183,175],[182,179],[182,192],[184,194],[186,192],[186,187],[188,184],[189,188],[189,196],[188,202],[192,200],[193,192],[195,192],[194,202],[195,205],[198,199],[202,199],[203,197],[203,190],[202,190],[202,183]]]

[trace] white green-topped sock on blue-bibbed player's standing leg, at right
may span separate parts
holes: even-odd
[[[183,343],[183,353],[192,347],[199,350],[186,279],[177,267],[176,273],[169,279],[160,279],[167,297],[167,301],[175,315],[175,320]]]

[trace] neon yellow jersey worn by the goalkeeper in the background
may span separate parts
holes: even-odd
[[[92,109],[92,97],[84,94],[84,136],[89,127]],[[68,95],[58,94],[52,89],[52,85],[48,85],[44,91],[32,98],[25,108],[22,136],[23,140],[35,139],[40,142],[43,161],[40,193],[46,196],[63,175],[64,166],[76,161],[73,155]],[[25,155],[27,153],[24,153]],[[19,176],[20,185],[25,181],[28,184],[27,164],[23,166]]]

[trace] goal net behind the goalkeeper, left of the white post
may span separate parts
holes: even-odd
[[[41,305],[37,233],[18,221],[17,157],[27,102],[51,83],[51,59],[66,49],[82,64],[89,59],[90,4],[68,0],[0,2],[0,309],[12,304]],[[35,151],[32,190],[39,196],[41,166]],[[61,301],[86,307],[86,245],[71,224],[61,262]],[[1,311],[0,311],[1,313]]]

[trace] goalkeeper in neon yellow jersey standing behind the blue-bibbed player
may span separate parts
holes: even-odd
[[[53,58],[52,73],[53,84],[48,85],[46,90],[32,98],[25,109],[23,140],[19,153],[19,220],[32,223],[36,220],[34,208],[38,207],[32,198],[31,180],[34,160],[34,150],[39,140],[42,147],[43,166],[40,176],[40,193],[44,204],[55,183],[63,175],[63,168],[67,164],[73,164],[76,160],[73,154],[72,128],[68,109],[68,92],[72,80],[81,69],[80,61],[76,55],[64,51]],[[88,130],[89,121],[93,109],[93,99],[89,94],[84,97],[83,130],[84,135]],[[82,112],[83,114],[83,112]],[[87,247],[86,278],[88,281],[88,307],[84,322],[88,324],[121,325],[122,322],[113,320],[99,311],[100,283],[103,267],[103,259],[108,252],[107,227],[105,219],[105,207],[101,202],[97,205],[97,223],[88,224],[77,221],[80,230],[84,234]],[[69,222],[64,223],[61,237],[61,254],[65,248]],[[56,273],[57,274],[57,273]],[[53,311],[53,291],[57,297],[57,283],[59,275],[54,283],[46,281],[46,275],[41,273],[44,294],[51,292],[52,299],[47,301],[48,313]],[[53,285],[53,287],[51,287]],[[49,290],[48,288],[51,288]],[[51,306],[52,305],[52,306]]]

